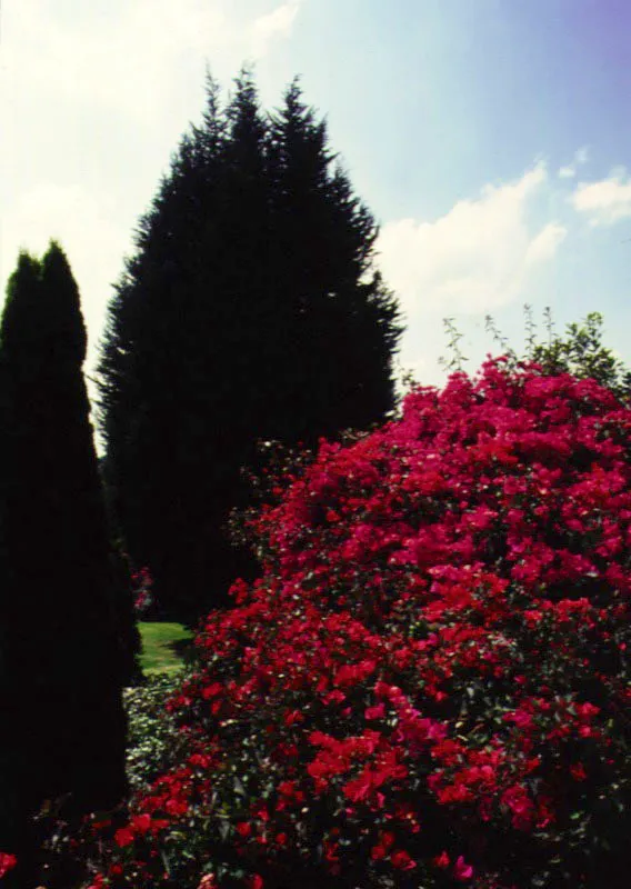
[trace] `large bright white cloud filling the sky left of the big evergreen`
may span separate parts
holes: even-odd
[[[291,36],[299,0],[20,0],[2,8],[0,309],[20,247],[59,238],[92,338],[138,216],[199,119],[203,74],[226,84],[256,44]]]

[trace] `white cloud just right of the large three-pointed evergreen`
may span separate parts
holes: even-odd
[[[387,223],[380,267],[410,322],[422,314],[483,313],[512,302],[530,272],[549,261],[567,230],[529,224],[528,210],[548,180],[542,163],[513,182],[485,186],[433,222]]]

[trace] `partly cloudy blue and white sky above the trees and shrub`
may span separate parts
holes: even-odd
[[[253,62],[266,108],[301,76],[407,329],[398,372],[441,384],[443,319],[474,371],[588,312],[631,363],[628,0],[3,0],[0,306],[20,249],[64,248],[93,372],[111,284],[171,153]],[[91,392],[93,393],[91,387]]]

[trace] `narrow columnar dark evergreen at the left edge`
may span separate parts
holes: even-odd
[[[109,576],[86,346],[60,247],[41,262],[22,253],[0,326],[0,848],[18,853],[23,886],[44,800],[81,812],[126,790],[131,656]]]

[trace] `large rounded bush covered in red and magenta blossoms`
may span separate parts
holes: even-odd
[[[630,481],[629,409],[501,359],[322,443],[92,887],[627,885]]]

